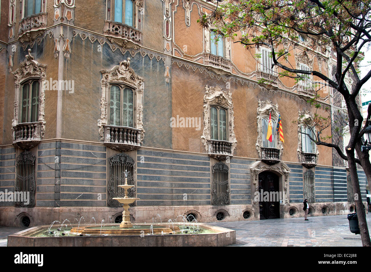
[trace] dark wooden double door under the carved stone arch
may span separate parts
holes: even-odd
[[[260,194],[262,190],[263,194]],[[269,197],[263,197],[264,194],[266,194],[265,192],[269,194]],[[272,192],[272,194],[270,192]],[[273,195],[277,196],[276,192],[279,192],[278,176],[271,172],[260,173],[259,174],[260,219],[279,218],[279,197],[274,198],[271,197]]]

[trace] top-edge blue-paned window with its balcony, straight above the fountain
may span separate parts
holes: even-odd
[[[143,0],[106,0],[103,33],[111,43],[122,48],[138,49],[142,44]],[[116,4],[116,6],[115,6]]]

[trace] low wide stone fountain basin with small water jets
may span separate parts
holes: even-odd
[[[102,232],[98,224],[68,225],[60,231],[52,227],[48,232],[50,226],[47,225],[22,230],[8,236],[8,246],[227,246],[236,243],[235,230],[203,223],[197,228],[193,223],[189,226],[137,223],[129,228],[108,224],[102,227]]]

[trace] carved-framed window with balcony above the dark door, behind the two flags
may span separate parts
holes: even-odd
[[[272,119],[272,142],[267,141],[266,130],[269,120],[269,113]],[[258,101],[256,111],[257,118],[257,140],[256,151],[262,161],[267,164],[275,164],[281,160],[283,152],[282,142],[279,140],[279,132],[276,131],[277,120],[279,116],[278,105],[274,105],[269,99]]]

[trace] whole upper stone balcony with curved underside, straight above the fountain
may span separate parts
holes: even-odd
[[[115,42],[122,47],[138,48],[142,45],[142,32],[140,30],[128,26],[127,24],[109,20],[105,20],[104,22],[103,33],[108,36],[111,42]],[[118,39],[121,39],[121,41]]]

